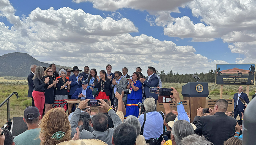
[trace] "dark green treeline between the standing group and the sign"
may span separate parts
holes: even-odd
[[[164,70],[156,73],[160,76],[162,82],[174,82],[174,83],[188,83],[188,82],[196,82],[196,79],[192,78],[192,75],[198,75],[200,80],[199,82],[215,82],[215,70],[209,70],[208,73],[198,72],[194,74],[179,74],[178,72],[175,74],[170,70],[167,74]]]

